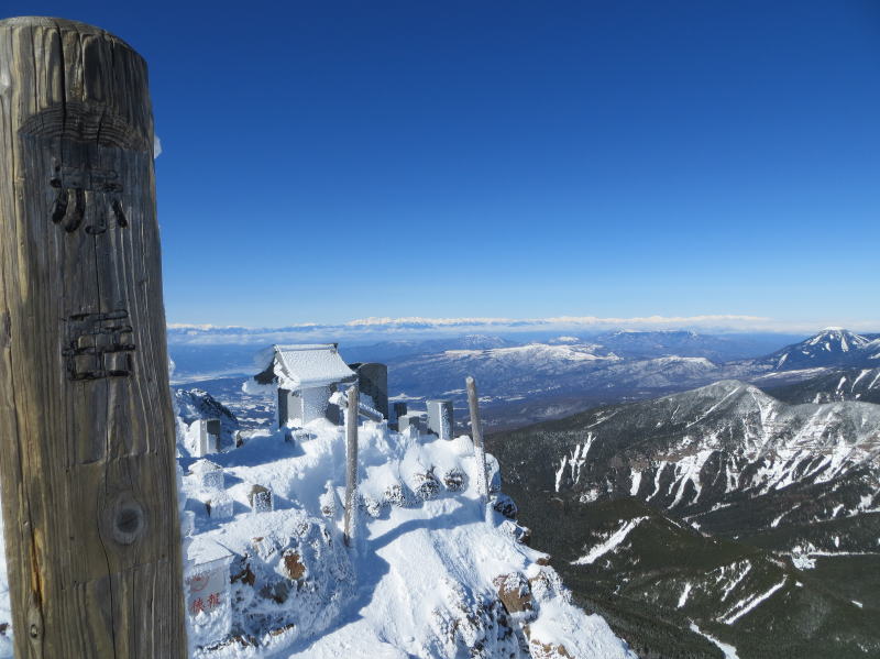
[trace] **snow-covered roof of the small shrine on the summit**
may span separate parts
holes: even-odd
[[[358,375],[345,365],[333,343],[275,345],[278,384],[290,391],[351,382]]]

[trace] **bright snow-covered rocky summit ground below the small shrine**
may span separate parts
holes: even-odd
[[[342,428],[319,419],[295,441],[285,430],[212,454],[221,491],[206,486],[202,470],[183,479],[189,569],[206,548],[211,564],[230,564],[228,608],[196,612],[197,657],[634,657],[601,616],[572,604],[548,557],[522,543],[527,529],[499,512],[515,505],[497,492],[492,457],[486,515],[470,438],[364,422],[359,520],[345,547]],[[255,486],[271,492],[271,509],[254,512]],[[218,629],[224,637],[209,642]]]

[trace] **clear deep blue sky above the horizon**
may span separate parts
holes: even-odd
[[[873,0],[2,10],[147,59],[172,322],[880,318]]]

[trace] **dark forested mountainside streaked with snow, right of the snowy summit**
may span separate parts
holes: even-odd
[[[872,374],[847,371],[840,395],[870,391]],[[835,392],[840,380],[822,382]],[[624,617],[684,614],[740,657],[880,651],[867,624],[876,591],[860,576],[880,557],[880,405],[785,403],[725,380],[490,446],[512,493],[530,502],[522,518],[535,546],[568,563],[558,569],[581,596],[606,593]],[[812,568],[815,579],[802,572]],[[867,615],[837,595],[855,589]],[[627,638],[656,656],[710,656],[664,651],[641,628]]]

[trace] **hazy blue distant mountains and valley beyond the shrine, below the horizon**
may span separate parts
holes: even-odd
[[[880,367],[876,336],[825,330],[781,350],[777,334],[618,330],[521,342],[520,336],[465,334],[340,345],[349,362],[388,364],[393,398],[418,406],[450,397],[466,415],[464,377],[476,377],[487,428],[516,428],[622,402],[652,398],[719,380],[781,387],[836,369]],[[174,381],[253,375],[256,347],[175,345]],[[210,389],[209,384],[204,384]]]

